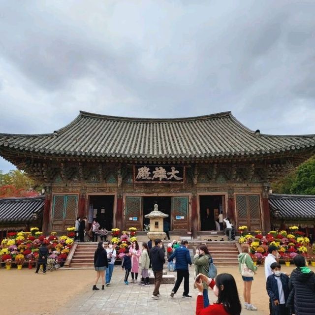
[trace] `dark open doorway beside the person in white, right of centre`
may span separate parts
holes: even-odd
[[[223,211],[223,202],[223,195],[199,196],[200,225],[202,231],[220,230],[216,221],[218,222],[218,216]]]

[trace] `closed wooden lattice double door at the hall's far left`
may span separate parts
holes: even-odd
[[[51,229],[56,232],[65,231],[74,226],[78,211],[77,195],[55,195],[53,200]]]

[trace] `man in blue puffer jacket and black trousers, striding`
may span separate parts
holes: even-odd
[[[191,266],[191,259],[190,259],[187,240],[182,241],[182,245],[179,248],[177,248],[175,252],[171,254],[171,256],[168,258],[168,261],[171,261],[173,258],[176,258],[177,279],[176,279],[174,288],[171,292],[171,297],[174,297],[174,294],[177,292],[184,278],[183,298],[190,298],[191,295],[189,295],[188,265]]]

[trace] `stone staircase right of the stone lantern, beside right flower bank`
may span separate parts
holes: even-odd
[[[238,266],[235,242],[207,242],[207,247],[217,267]]]

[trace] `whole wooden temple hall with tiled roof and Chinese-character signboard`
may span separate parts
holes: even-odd
[[[0,134],[0,155],[43,183],[43,230],[64,231],[77,216],[143,230],[154,204],[171,231],[236,225],[271,227],[270,183],[315,154],[315,135],[266,135],[231,112],[124,118],[80,112],[49,134]]]

